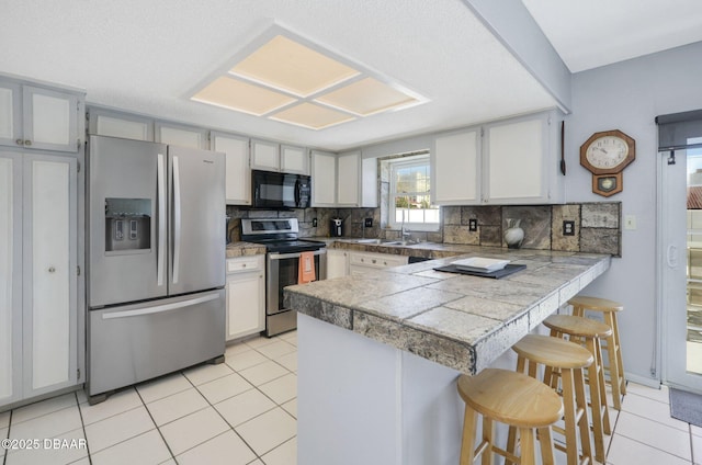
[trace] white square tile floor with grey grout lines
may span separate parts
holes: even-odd
[[[103,404],[89,406],[79,392],[0,413],[0,438],[68,445],[0,451],[0,458],[3,465],[295,465],[296,372],[295,332],[251,339],[228,347],[224,364],[143,383]],[[670,418],[666,387],[630,383],[611,419],[608,464],[702,465],[702,428]],[[564,457],[557,454],[559,463]]]

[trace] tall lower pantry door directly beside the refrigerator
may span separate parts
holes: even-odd
[[[24,157],[24,397],[77,375],[76,159]]]

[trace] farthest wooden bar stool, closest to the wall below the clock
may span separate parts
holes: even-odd
[[[622,349],[619,339],[619,322],[616,314],[624,309],[619,302],[607,298],[575,296],[568,300],[573,305],[573,315],[584,317],[586,310],[601,311],[603,320],[612,328],[612,336],[604,338],[602,349],[607,350],[609,359],[610,384],[612,385],[612,397],[614,408],[622,409],[622,396],[626,395],[626,379],[624,378],[624,363],[622,362]]]

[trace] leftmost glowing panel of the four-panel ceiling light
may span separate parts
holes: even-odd
[[[296,99],[223,76],[194,94],[192,100],[260,116],[285,106]]]

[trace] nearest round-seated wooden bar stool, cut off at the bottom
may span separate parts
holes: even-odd
[[[492,463],[492,453],[522,465],[536,462],[534,429],[541,444],[543,464],[554,464],[551,426],[563,416],[563,402],[553,389],[522,373],[486,368],[475,376],[458,377],[458,394],[465,401],[461,465],[473,465],[483,454],[483,464]],[[475,445],[477,413],[483,416],[483,440]],[[521,457],[495,445],[494,421],[516,427],[521,439]]]

